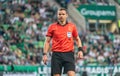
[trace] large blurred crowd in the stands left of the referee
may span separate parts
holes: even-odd
[[[56,11],[45,0],[0,1],[0,64],[40,64],[45,33]]]

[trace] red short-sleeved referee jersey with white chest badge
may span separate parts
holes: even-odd
[[[52,51],[69,52],[74,50],[73,37],[77,37],[78,32],[71,22],[67,22],[64,26],[56,22],[49,26],[46,36],[52,38]]]

